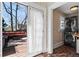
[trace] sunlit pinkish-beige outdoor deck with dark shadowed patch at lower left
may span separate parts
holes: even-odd
[[[25,57],[27,54],[27,41],[16,42],[15,46],[5,48],[3,56],[5,57]]]

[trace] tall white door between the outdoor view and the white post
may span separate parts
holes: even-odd
[[[30,8],[28,51],[34,56],[42,52],[43,46],[43,12],[36,8]]]

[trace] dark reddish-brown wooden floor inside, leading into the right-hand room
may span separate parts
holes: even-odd
[[[54,49],[54,52],[50,55],[48,53],[42,53],[35,57],[79,57],[79,54],[76,54],[74,48],[63,45]]]

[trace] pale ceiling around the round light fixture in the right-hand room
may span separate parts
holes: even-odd
[[[58,10],[60,10],[61,12],[65,13],[65,14],[71,14],[74,13],[70,10],[70,7],[78,5],[79,6],[79,2],[68,2],[65,5],[57,8]]]

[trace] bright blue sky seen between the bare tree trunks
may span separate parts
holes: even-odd
[[[9,2],[4,2],[7,8],[10,8],[10,3]],[[12,3],[12,9],[16,9],[16,3]],[[15,11],[12,11],[13,14],[15,15]],[[18,22],[21,23],[22,20],[25,18],[25,15],[28,12],[28,7],[24,6],[22,4],[19,4],[18,12],[17,12],[17,18]],[[28,14],[27,14],[28,15]],[[2,17],[4,18],[5,22],[10,25],[10,15],[5,11],[3,5],[2,5]],[[15,18],[13,18],[13,23],[15,24]]]

